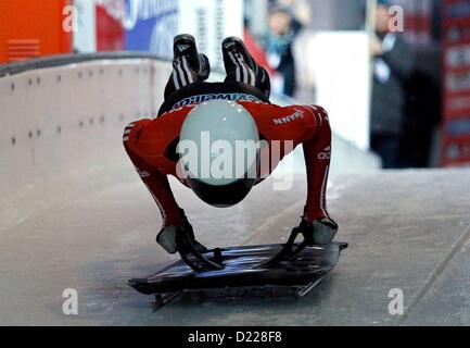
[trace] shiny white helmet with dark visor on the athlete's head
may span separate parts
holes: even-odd
[[[182,124],[178,175],[203,201],[237,204],[256,181],[259,134],[252,115],[228,100],[196,105]]]

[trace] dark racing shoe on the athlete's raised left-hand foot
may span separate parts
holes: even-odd
[[[174,59],[182,57],[188,59],[191,70],[198,75],[199,80],[206,80],[211,74],[211,63],[205,54],[198,52],[195,39],[190,34],[181,34],[175,37],[173,45]]]

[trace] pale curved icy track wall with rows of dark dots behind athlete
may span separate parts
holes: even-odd
[[[74,191],[102,189],[116,173],[131,172],[123,128],[156,114],[169,73],[168,62],[128,53],[1,67],[0,233]],[[334,171],[377,167],[347,142],[335,138],[333,146]]]

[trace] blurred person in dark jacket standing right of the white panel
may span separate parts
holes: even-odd
[[[371,149],[384,169],[399,166],[399,144],[405,115],[405,85],[415,67],[411,49],[398,33],[389,30],[391,22],[386,1],[379,1],[376,35],[370,39],[373,57],[371,110]]]

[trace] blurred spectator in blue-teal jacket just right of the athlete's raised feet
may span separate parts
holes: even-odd
[[[269,12],[268,24],[265,49],[269,65],[282,79],[282,92],[292,97],[296,85],[292,44],[302,24],[293,17],[289,8],[279,5]]]

